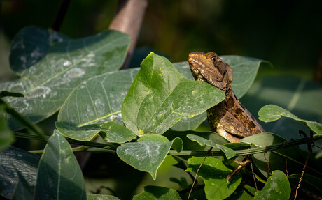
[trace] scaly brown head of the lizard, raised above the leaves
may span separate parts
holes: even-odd
[[[216,53],[193,52],[188,61],[195,80],[208,82],[224,92],[231,88],[232,67]]]

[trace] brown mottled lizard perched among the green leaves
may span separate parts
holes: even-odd
[[[220,134],[230,142],[239,142],[241,138],[265,132],[232,91],[232,67],[228,63],[214,52],[190,53],[188,62],[195,80],[207,82],[225,93],[225,99],[222,102],[207,110],[211,131]],[[237,160],[235,162],[239,167],[226,178],[227,181],[245,167],[250,159],[246,156],[243,162]]]

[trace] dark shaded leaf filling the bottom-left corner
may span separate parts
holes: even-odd
[[[18,184],[17,171],[20,171],[31,190],[34,190],[39,162],[38,155],[10,146],[0,151],[0,160],[0,194],[2,197],[12,198],[14,187]]]

